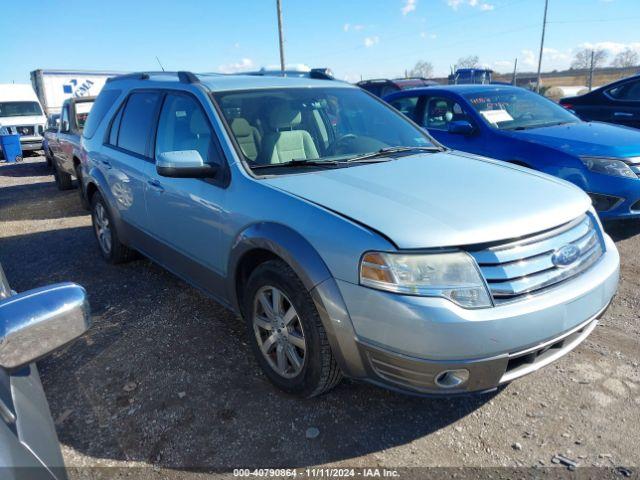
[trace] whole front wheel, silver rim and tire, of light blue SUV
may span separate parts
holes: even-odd
[[[249,341],[269,380],[300,397],[335,387],[342,373],[311,296],[282,260],[258,266],[244,305]]]

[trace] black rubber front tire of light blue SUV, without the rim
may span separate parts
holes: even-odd
[[[304,332],[306,345],[302,369],[292,378],[280,375],[271,366],[260,350],[254,330],[254,304],[258,301],[257,295],[264,288],[270,287],[284,293],[285,300],[295,308],[296,321],[299,321]],[[244,299],[243,311],[251,348],[260,367],[275,386],[298,397],[309,398],[325,393],[340,383],[342,372],[331,352],[327,332],[318,311],[305,286],[285,262],[269,260],[259,265],[249,277]]]

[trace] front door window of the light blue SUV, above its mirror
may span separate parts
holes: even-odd
[[[187,95],[167,95],[158,121],[156,158],[160,153],[196,150],[205,163],[219,164],[216,146],[209,120],[198,101]]]

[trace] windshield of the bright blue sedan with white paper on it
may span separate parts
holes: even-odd
[[[525,130],[578,122],[561,106],[528,90],[495,90],[464,96],[489,125],[500,130]]]

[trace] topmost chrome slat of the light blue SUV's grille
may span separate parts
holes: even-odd
[[[545,234],[545,236],[541,237],[539,241],[536,241],[536,237],[533,237],[532,241],[525,239],[519,242],[512,242],[507,245],[491,247],[486,250],[469,253],[473,255],[478,263],[482,264],[501,264],[505,262],[518,261],[523,258],[529,258],[553,251],[558,248],[558,246],[571,243],[580,237],[583,237],[589,232],[590,223],[590,219],[585,216],[582,221],[573,225],[569,229],[561,227],[557,230],[552,230],[551,236]],[[557,233],[554,235],[554,232]]]

